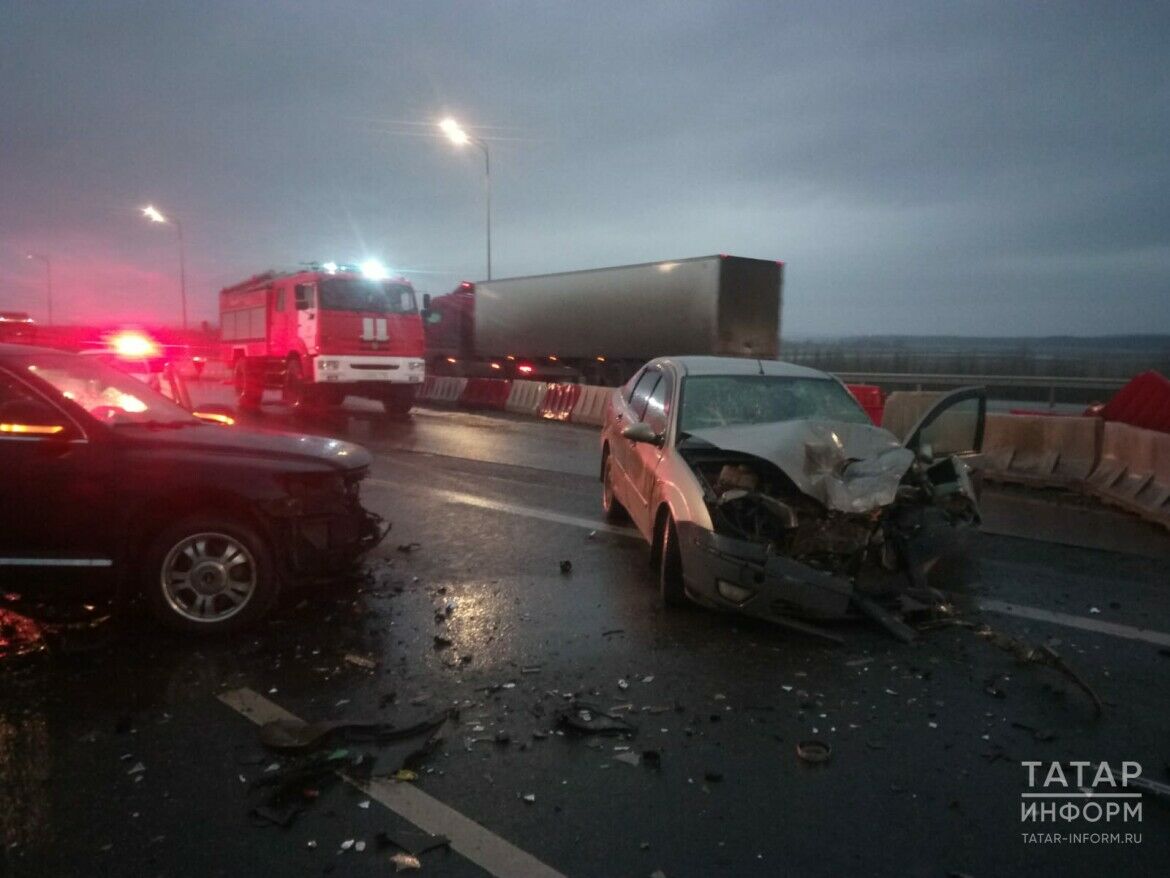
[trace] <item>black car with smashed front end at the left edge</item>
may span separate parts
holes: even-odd
[[[378,542],[364,448],[215,420],[95,358],[0,344],[2,591],[142,596],[172,627],[225,631]]]

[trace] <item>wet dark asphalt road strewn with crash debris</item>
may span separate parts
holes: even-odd
[[[289,426],[275,406],[266,420]],[[364,498],[393,530],[370,576],[238,638],[128,619],[6,661],[0,874],[391,872],[378,836],[406,822],[343,782],[314,781],[290,828],[249,818],[252,782],[288,760],[218,698],[241,687],[309,720],[457,708],[417,786],[564,874],[1164,873],[1170,809],[1150,796],[1141,823],[1073,826],[1140,844],[1026,844],[1021,831],[1068,828],[1021,825],[1020,761],[1129,760],[1170,780],[1166,649],[973,609],[1168,632],[1164,561],[986,534],[975,569],[940,583],[971,622],[1055,645],[1104,701],[1095,719],[1066,678],[968,627],[903,645],[859,624],[828,646],[660,609],[646,547],[591,526],[592,431],[426,410],[319,430],[376,453]],[[552,733],[571,694],[628,705],[636,735]],[[831,743],[827,763],[797,757],[810,738]],[[417,746],[350,750],[384,775]],[[644,750],[661,766],[615,760]],[[365,850],[343,851],[349,839]],[[446,850],[421,859],[425,873],[487,873]]]

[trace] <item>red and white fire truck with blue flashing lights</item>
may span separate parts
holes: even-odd
[[[266,272],[227,287],[220,337],[243,409],[276,387],[294,409],[356,396],[405,414],[425,377],[414,288],[369,263]]]

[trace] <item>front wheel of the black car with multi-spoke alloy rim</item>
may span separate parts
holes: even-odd
[[[247,627],[280,592],[268,542],[241,519],[213,513],[164,528],[143,556],[140,582],[154,618],[193,635]]]

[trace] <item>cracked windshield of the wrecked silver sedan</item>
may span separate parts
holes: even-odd
[[[684,433],[784,420],[872,424],[849,392],[830,378],[695,375],[683,378],[681,403],[679,430]]]

